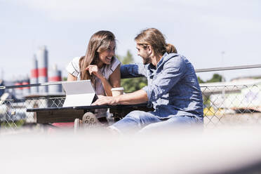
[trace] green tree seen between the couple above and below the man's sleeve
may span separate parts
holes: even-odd
[[[131,64],[134,62],[131,51],[127,51],[127,54],[123,57],[117,56],[123,65]],[[131,93],[137,91],[147,85],[147,79],[145,77],[121,79],[121,86],[124,88],[125,93]]]

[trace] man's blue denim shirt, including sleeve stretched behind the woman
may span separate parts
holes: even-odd
[[[157,66],[121,65],[121,76],[147,77],[148,103],[160,118],[195,116],[203,119],[202,94],[193,65],[182,55],[165,53]]]

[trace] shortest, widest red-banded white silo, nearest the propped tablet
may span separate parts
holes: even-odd
[[[52,69],[49,69],[48,81],[62,81],[62,73],[58,70],[57,65],[54,65]],[[49,86],[49,93],[62,93],[62,85],[51,85]]]

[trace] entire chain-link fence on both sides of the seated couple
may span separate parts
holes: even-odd
[[[261,123],[261,82],[253,84],[202,84],[204,125]],[[0,100],[1,129],[35,126],[36,113],[28,108],[62,107],[65,96],[39,96],[22,100],[8,99],[4,93]]]

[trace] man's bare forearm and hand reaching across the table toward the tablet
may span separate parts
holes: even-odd
[[[147,101],[147,93],[141,89],[133,93],[126,93],[116,97],[100,96],[92,105],[135,105]]]

